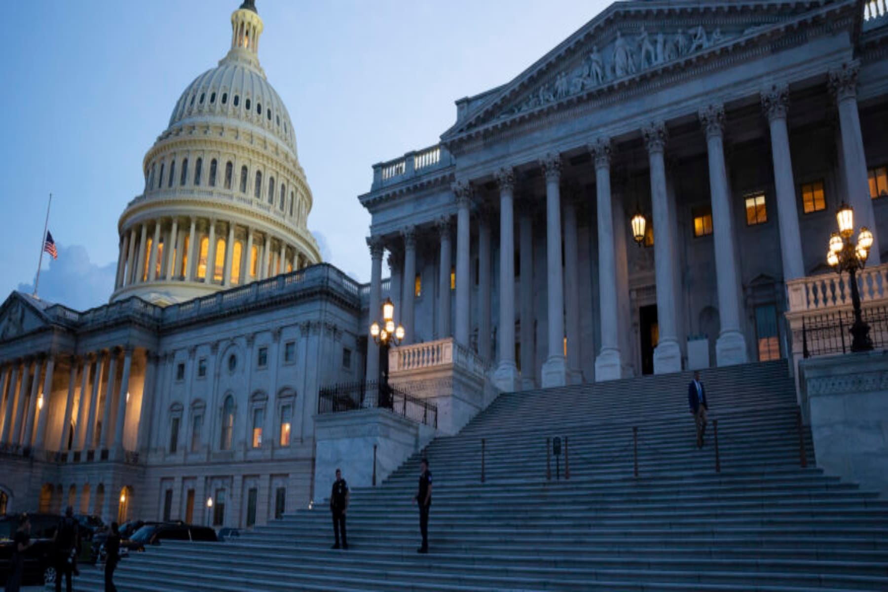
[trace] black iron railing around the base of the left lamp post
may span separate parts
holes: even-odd
[[[438,407],[400,391],[387,383],[359,381],[324,387],[318,393],[318,414],[343,413],[355,409],[388,409],[432,428],[438,427]]]

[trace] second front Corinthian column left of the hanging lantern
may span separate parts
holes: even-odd
[[[540,161],[546,178],[546,275],[549,288],[549,356],[543,362],[543,388],[564,386],[564,278],[561,269],[561,157],[546,154]]]

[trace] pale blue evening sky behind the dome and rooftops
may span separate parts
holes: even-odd
[[[59,260],[40,295],[107,302],[117,219],[187,84],[225,56],[240,0],[32,0],[4,6],[0,292],[34,279],[46,199]],[[454,101],[505,83],[607,7],[601,0],[258,0],[259,59],[297,131],[324,256],[369,279],[371,166],[430,146]],[[13,26],[14,24],[14,26]]]

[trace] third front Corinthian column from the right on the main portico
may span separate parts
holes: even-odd
[[[706,132],[706,148],[710,161],[712,234],[715,239],[718,317],[721,322],[721,331],[716,341],[716,360],[718,366],[729,366],[746,362],[747,354],[746,339],[740,328],[740,286],[737,259],[733,250],[731,194],[728,191],[725,171],[723,144],[725,107],[722,105],[702,107],[699,116]],[[657,276],[659,282],[659,273]]]

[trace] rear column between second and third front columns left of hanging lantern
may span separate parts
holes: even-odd
[[[536,386],[536,351],[534,339],[534,219],[531,204],[522,204],[518,217],[519,242],[519,326],[521,335],[521,389]]]

